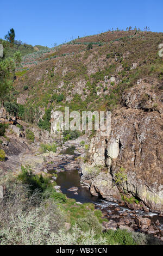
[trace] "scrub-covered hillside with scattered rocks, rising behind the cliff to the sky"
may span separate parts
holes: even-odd
[[[162,33],[106,32],[30,53],[16,73],[17,102],[33,112],[38,107],[62,109],[65,104],[74,110],[114,109],[140,79],[159,96],[162,40]],[[63,99],[57,100],[60,95]]]

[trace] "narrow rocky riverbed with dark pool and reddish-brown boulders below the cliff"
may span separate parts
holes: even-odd
[[[73,142],[75,144],[75,142]],[[57,185],[59,185],[62,192],[67,194],[68,197],[74,198],[80,203],[93,203],[95,208],[103,212],[103,217],[108,218],[109,222],[103,222],[105,230],[117,228],[127,229],[128,231],[141,231],[146,234],[154,235],[163,240],[163,218],[162,216],[149,211],[147,206],[142,204],[129,204],[126,202],[114,203],[103,200],[101,197],[92,196],[90,190],[81,184],[79,165],[76,162],[76,169],[73,169],[73,157],[83,154],[82,147],[76,144],[78,150],[76,151],[74,144],[68,142],[66,145],[72,148],[65,148],[64,145],[64,159],[69,157],[72,167],[67,168],[63,166],[58,170]],[[75,149],[75,150],[74,150]],[[76,152],[76,154],[73,153]],[[80,152],[80,153],[79,153]],[[72,157],[70,157],[72,156]],[[53,170],[51,170],[51,173]]]

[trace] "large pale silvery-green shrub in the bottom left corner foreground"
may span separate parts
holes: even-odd
[[[54,200],[43,200],[37,190],[14,180],[5,182],[0,205],[1,245],[46,245],[62,228],[65,217]],[[30,193],[29,193],[30,192]]]

